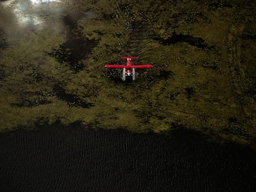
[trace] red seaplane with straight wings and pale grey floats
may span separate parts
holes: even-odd
[[[125,81],[126,77],[132,77],[135,80],[137,73],[135,69],[139,68],[153,68],[153,65],[132,65],[132,59],[137,59],[137,57],[121,57],[122,59],[127,59],[126,65],[105,65],[106,68],[121,68],[122,69],[122,80]]]

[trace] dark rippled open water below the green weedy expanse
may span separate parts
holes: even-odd
[[[255,191],[256,153],[173,136],[51,125],[0,133],[1,191]]]

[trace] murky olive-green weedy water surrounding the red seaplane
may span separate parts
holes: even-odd
[[[255,146],[255,2],[1,1],[1,130],[179,126]],[[122,82],[121,56],[137,56]]]

